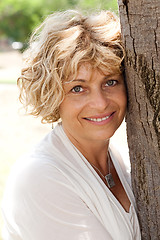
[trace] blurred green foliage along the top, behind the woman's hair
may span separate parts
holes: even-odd
[[[27,42],[33,29],[50,13],[65,9],[111,9],[117,0],[5,0],[0,1],[0,37]]]

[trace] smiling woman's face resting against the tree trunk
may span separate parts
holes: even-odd
[[[71,77],[63,86],[65,98],[60,117],[69,139],[84,143],[109,139],[126,112],[123,76],[104,74],[83,64],[77,77]]]

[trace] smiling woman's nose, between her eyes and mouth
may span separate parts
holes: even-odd
[[[99,110],[104,110],[108,103],[108,97],[102,90],[96,90],[90,95],[90,106]]]

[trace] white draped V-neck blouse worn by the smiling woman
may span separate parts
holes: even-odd
[[[109,151],[129,213],[58,124],[13,168],[2,204],[3,239],[140,240],[128,173],[113,146]]]

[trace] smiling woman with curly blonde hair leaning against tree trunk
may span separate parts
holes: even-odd
[[[109,143],[126,112],[123,59],[109,11],[55,13],[32,36],[20,100],[59,123],[14,167],[4,239],[141,239],[127,171]]]

